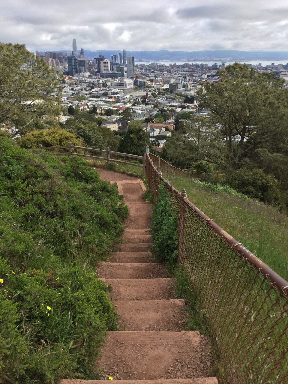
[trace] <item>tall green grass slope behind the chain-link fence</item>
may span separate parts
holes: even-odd
[[[276,207],[250,198],[211,192],[202,183],[171,177],[177,190],[186,189],[187,198],[205,215],[242,243],[280,276],[288,280],[288,217]],[[225,192],[226,191],[226,192]],[[230,193],[233,193],[230,191]]]

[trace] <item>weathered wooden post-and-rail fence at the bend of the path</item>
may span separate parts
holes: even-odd
[[[131,155],[129,153],[110,151],[109,147],[107,147],[106,149],[95,149],[95,148],[87,148],[87,147],[78,147],[78,146],[71,145],[71,142],[68,142],[68,145],[65,145],[65,146],[54,146],[54,147],[43,147],[43,145],[40,144],[39,148],[40,149],[64,149],[64,148],[67,148],[68,152],[61,152],[61,153],[58,153],[58,152],[55,153],[54,152],[53,155],[55,155],[55,156],[65,156],[65,155],[72,156],[73,155],[73,156],[80,156],[80,157],[92,157],[93,159],[106,160],[107,164],[109,164],[109,162],[117,162],[117,163],[122,163],[122,164],[129,164],[129,165],[134,166],[134,167],[142,168],[143,174],[145,174],[146,153],[144,154],[144,156]],[[83,153],[76,153],[76,152],[73,152],[72,149],[76,149],[76,150],[83,151],[83,152],[96,152],[96,153],[106,154],[106,156],[105,157],[101,157],[101,156],[93,156],[93,155],[90,155],[90,154],[86,155],[86,154],[83,154]],[[128,158],[132,158],[132,159],[142,160],[142,164],[135,164],[135,163],[132,163],[132,162],[122,161],[122,160],[119,160],[119,159],[111,159],[110,155],[119,156],[119,157],[128,157]]]

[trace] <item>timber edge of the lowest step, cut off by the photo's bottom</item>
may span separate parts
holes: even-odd
[[[116,380],[117,384],[218,384],[216,377],[195,377],[194,379],[172,380]],[[61,384],[103,384],[103,380],[64,379]]]

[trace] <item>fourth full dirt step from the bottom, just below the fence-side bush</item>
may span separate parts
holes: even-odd
[[[153,279],[167,277],[161,263],[99,263],[97,272],[106,279]]]

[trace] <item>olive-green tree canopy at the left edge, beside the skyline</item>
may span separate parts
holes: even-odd
[[[45,128],[61,111],[58,78],[53,69],[23,44],[0,43],[0,122],[15,135]],[[57,96],[51,94],[58,91]]]

